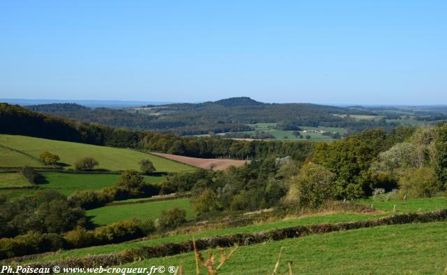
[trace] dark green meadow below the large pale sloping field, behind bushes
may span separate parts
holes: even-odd
[[[101,190],[114,185],[119,178],[115,174],[65,174],[57,172],[41,173],[45,183],[39,184],[41,189],[54,189],[68,196],[78,190]],[[165,176],[144,176],[146,183],[159,183]]]

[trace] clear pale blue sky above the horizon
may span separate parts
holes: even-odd
[[[447,104],[447,1],[0,1],[0,98]]]

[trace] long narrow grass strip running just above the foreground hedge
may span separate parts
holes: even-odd
[[[298,225],[309,225],[318,223],[342,223],[354,220],[369,220],[372,218],[379,218],[388,214],[360,214],[360,213],[328,213],[325,215],[307,216],[303,218],[288,218],[279,220],[277,222],[259,223],[255,225],[247,225],[243,227],[234,227],[218,230],[208,230],[195,234],[196,238],[212,237],[217,235],[228,235],[237,233],[253,233],[261,232],[264,230],[272,230],[276,228],[293,227]],[[135,248],[138,246],[152,246],[156,244],[165,244],[168,242],[178,243],[180,241],[188,241],[191,239],[191,235],[177,235],[172,237],[163,237],[158,239],[149,239],[145,241],[135,241],[126,244],[110,244],[105,246],[94,246],[89,248],[79,248],[70,251],[61,251],[54,255],[48,255],[44,258],[40,258],[39,261],[55,260],[59,258],[78,257],[89,254],[101,254],[112,253],[117,251],[124,251],[129,248]]]

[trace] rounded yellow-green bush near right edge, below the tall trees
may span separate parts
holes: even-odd
[[[402,197],[434,197],[444,190],[432,168],[420,167],[406,169],[399,179]]]

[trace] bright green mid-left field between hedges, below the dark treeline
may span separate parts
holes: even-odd
[[[129,220],[131,218],[139,218],[145,220],[150,218],[155,220],[161,217],[161,211],[173,209],[186,210],[186,218],[192,218],[195,214],[191,209],[189,199],[171,199],[161,202],[147,202],[143,204],[126,204],[119,206],[104,206],[97,209],[87,211],[87,216],[92,217],[92,222],[96,225],[108,225],[120,220]]]

